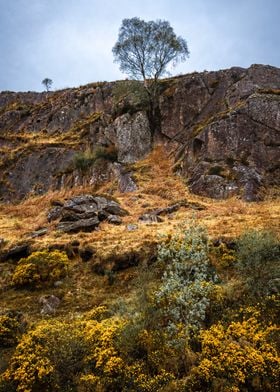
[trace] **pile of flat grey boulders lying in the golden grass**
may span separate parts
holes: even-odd
[[[121,224],[120,216],[127,211],[106,197],[80,195],[72,197],[48,213],[48,221],[59,219],[56,228],[65,233],[92,231],[105,219],[112,224]]]

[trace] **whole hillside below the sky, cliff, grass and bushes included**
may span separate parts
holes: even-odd
[[[280,69],[132,86],[0,93],[0,391],[274,392]]]

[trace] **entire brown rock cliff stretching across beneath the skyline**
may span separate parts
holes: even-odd
[[[116,113],[113,86],[0,93],[0,199],[116,177],[120,191],[133,192],[126,166],[144,158],[152,140],[174,154],[194,193],[252,201],[279,185],[280,69],[253,65],[163,80],[153,137],[143,109]],[[115,149],[116,158],[85,156],[82,170],[77,152],[97,147]]]

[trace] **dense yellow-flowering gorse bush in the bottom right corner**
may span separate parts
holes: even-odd
[[[280,360],[270,341],[275,331],[275,326],[262,328],[252,316],[201,332],[201,361],[192,371],[190,390],[276,391]]]

